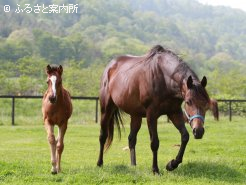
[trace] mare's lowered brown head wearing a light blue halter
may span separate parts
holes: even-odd
[[[207,78],[204,76],[201,82],[193,82],[189,76],[186,82],[186,92],[184,94],[184,114],[189,122],[195,139],[201,139],[204,134],[205,113],[212,110],[214,117],[218,119],[218,106],[214,100],[210,100],[205,89]]]

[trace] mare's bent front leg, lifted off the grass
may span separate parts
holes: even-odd
[[[189,141],[189,133],[185,127],[182,111],[180,111],[177,114],[169,115],[168,117],[170,118],[170,120],[173,122],[173,124],[181,134],[181,146],[178,155],[176,156],[176,159],[171,160],[166,166],[166,169],[168,171],[172,171],[176,169],[180,163],[182,163],[185,148]]]

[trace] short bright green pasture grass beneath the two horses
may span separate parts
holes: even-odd
[[[41,121],[27,126],[2,125],[0,184],[246,184],[245,119],[214,122],[208,118],[204,138],[195,140],[191,135],[183,163],[172,172],[167,172],[165,166],[178,152],[175,145],[180,143],[180,135],[164,120],[158,125],[160,176],[151,172],[152,153],[145,122],[138,134],[137,166],[130,166],[129,151],[123,150],[128,143],[126,124],[121,141],[115,137],[105,154],[102,168],[96,167],[99,125],[70,124],[62,173],[58,175],[50,174],[50,152]]]

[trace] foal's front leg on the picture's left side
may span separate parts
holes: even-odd
[[[50,152],[51,152],[51,173],[57,174],[56,168],[56,139],[54,135],[54,126],[50,125],[49,123],[45,123],[45,129],[47,131],[47,138],[50,144]]]

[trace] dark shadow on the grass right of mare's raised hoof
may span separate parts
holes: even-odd
[[[177,175],[192,178],[207,178],[214,181],[243,182],[245,175],[224,164],[209,162],[189,162],[180,166]]]

